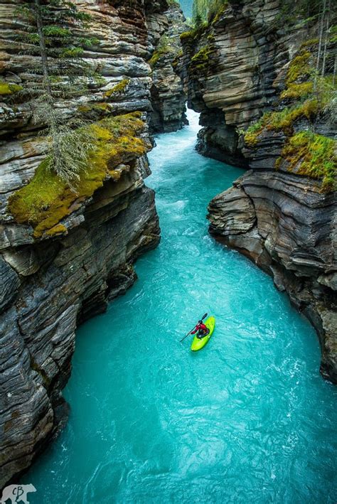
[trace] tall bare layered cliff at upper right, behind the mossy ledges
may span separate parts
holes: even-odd
[[[240,130],[271,106],[273,85],[299,45],[278,0],[229,1],[207,27],[182,36],[188,104],[200,112],[197,150],[247,167]]]

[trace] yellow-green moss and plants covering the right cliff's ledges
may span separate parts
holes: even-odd
[[[318,58],[319,39],[302,44],[289,64],[277,110],[264,113],[259,121],[252,124],[245,132],[245,142],[247,146],[255,147],[264,131],[282,131],[287,138],[276,168],[282,166],[285,160],[289,171],[319,178],[322,190],[330,191],[336,187],[335,142],[315,134],[314,122],[317,117],[328,122],[336,114],[337,89],[334,72],[326,75],[326,68],[331,69],[331,63],[319,64]],[[301,119],[309,123],[309,131],[299,131],[298,122]]]

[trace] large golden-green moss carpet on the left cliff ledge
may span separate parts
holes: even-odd
[[[80,174],[76,191],[72,191],[55,173],[48,170],[48,161],[36,169],[27,186],[9,198],[8,210],[16,221],[31,224],[33,236],[44,232],[53,235],[63,232],[59,222],[103,185],[106,178],[117,180],[120,173],[114,170],[119,163],[142,156],[148,150],[139,134],[144,129],[141,112],[117,117],[107,117],[87,128],[95,138],[95,149],[87,160],[87,170]]]

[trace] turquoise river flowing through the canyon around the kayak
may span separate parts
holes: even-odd
[[[77,331],[70,419],[22,483],[31,504],[337,501],[336,392],[319,342],[245,257],[208,235],[242,170],[194,150],[198,118],[151,152],[159,247]],[[208,345],[179,340],[207,311]]]

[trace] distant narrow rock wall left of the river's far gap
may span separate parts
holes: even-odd
[[[149,63],[152,68],[150,128],[154,133],[173,132],[187,123],[186,94],[177,72],[177,57],[182,52],[180,35],[186,29],[178,4],[163,14],[148,18],[150,41],[154,46]]]

